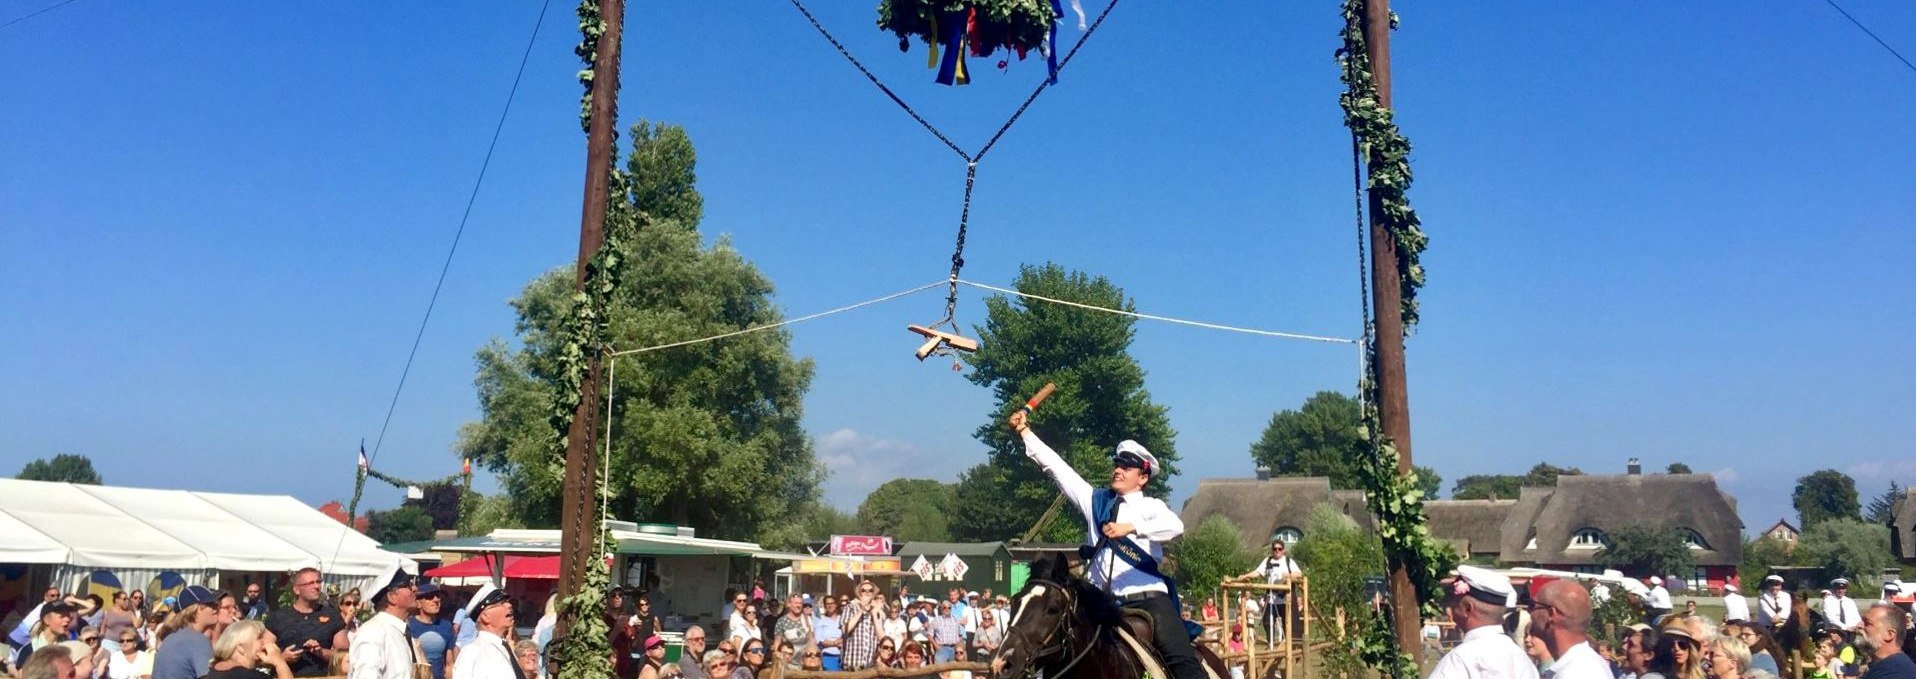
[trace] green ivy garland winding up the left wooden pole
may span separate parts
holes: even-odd
[[[584,69],[579,71],[579,84],[584,86],[584,94],[579,98],[579,127],[590,132],[594,96],[592,63],[598,59],[598,40],[605,35],[605,17],[600,13],[598,0],[579,2],[579,46],[573,48],[573,54],[584,61]],[[617,92],[605,94],[617,96]],[[630,178],[619,171],[617,153],[613,153],[611,167],[605,171],[611,175],[605,205],[605,240],[592,253],[592,259],[586,261],[582,290],[571,295],[571,313],[561,328],[559,355],[556,357],[559,361],[559,384],[554,391],[552,410],[548,412],[548,422],[552,424],[548,449],[552,451],[550,464],[559,468],[559,476],[563,476],[565,466],[565,435],[571,430],[573,412],[579,407],[581,387],[584,386],[592,355],[602,353],[605,347],[611,293],[619,288],[627,244],[630,242],[632,228],[638,224],[638,215],[632,215],[628,203],[623,199],[630,192]],[[596,493],[602,501],[609,493],[604,476],[598,480]],[[586,510],[592,512],[596,508]],[[598,558],[586,566],[584,581],[577,593],[559,600],[559,612],[571,620],[569,631],[563,639],[554,641],[552,650],[559,662],[559,679],[613,679],[609,660],[611,627],[605,625],[605,591],[611,587],[611,554],[615,545],[604,524],[600,524],[598,535]]]

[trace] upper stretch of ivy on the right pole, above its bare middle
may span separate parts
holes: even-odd
[[[1364,40],[1366,0],[1343,2],[1343,48],[1337,50],[1337,65],[1345,92],[1337,96],[1343,105],[1343,125],[1357,134],[1358,150],[1364,153],[1368,169],[1366,182],[1376,192],[1380,211],[1372,215],[1383,222],[1397,246],[1397,276],[1403,293],[1404,330],[1418,324],[1418,288],[1424,288],[1424,265],[1420,255],[1429,246],[1424,222],[1410,209],[1410,140],[1397,129],[1389,107],[1383,105],[1378,84],[1370,73],[1370,52]],[[1397,29],[1397,13],[1391,13],[1391,27]]]

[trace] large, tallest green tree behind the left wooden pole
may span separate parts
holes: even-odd
[[[728,240],[703,246],[703,199],[684,129],[640,123],[607,221],[642,221],[632,261],[607,309],[613,347],[648,347],[778,322],[772,284]],[[607,230],[615,230],[613,224]],[[573,305],[573,267],[533,280],[519,299],[517,345],[479,349],[483,418],[456,453],[500,474],[513,514],[556,526],[563,466],[546,420],[559,374],[559,330]],[[791,336],[755,332],[615,361],[611,514],[694,526],[699,535],[776,543],[801,537],[824,476],[799,426],[812,363]],[[776,537],[776,539],[774,539]]]

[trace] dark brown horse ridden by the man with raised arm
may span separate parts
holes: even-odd
[[[1040,673],[1046,679],[1144,679],[1144,662],[1117,635],[1127,623],[1132,621],[1111,597],[1073,575],[1069,562],[1038,560],[1031,568],[1031,581],[1012,598],[1012,623],[1006,625],[1004,644],[998,646],[991,671],[1000,679],[1031,679]],[[1150,648],[1148,631],[1134,629],[1130,635]],[[1209,648],[1198,646],[1198,658],[1213,677],[1230,677]]]

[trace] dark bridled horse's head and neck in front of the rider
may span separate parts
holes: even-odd
[[[1033,564],[1031,581],[1012,598],[1004,644],[991,660],[992,677],[1025,679],[1040,669],[1058,675],[1058,666],[1073,662],[1073,652],[1083,656],[1090,648],[1090,643],[1077,639],[1077,627],[1084,627],[1079,612],[1084,589],[1084,581],[1071,575],[1069,564],[1060,556]]]

